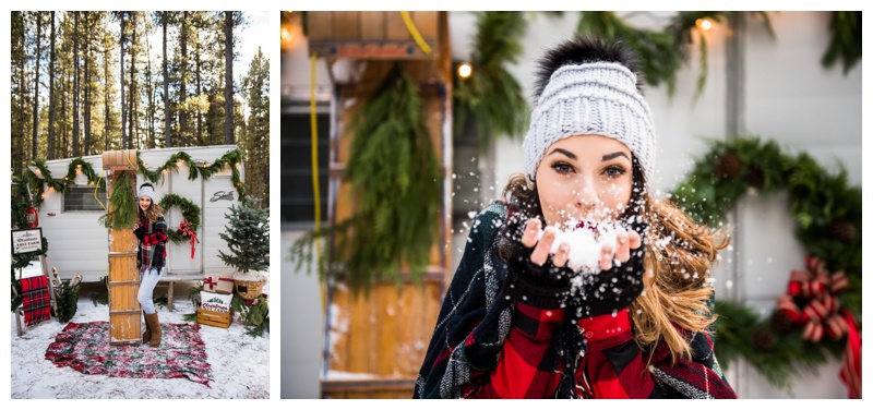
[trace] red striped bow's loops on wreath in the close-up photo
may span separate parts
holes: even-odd
[[[806,270],[791,270],[788,293],[779,298],[778,308],[791,322],[804,325],[806,340],[818,342],[824,334],[839,340],[849,331],[849,324],[840,314],[837,293],[848,287],[845,273],[830,275],[824,261],[808,256]]]

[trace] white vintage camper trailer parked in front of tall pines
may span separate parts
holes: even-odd
[[[211,165],[235,149],[237,147],[232,145],[144,149],[140,150],[140,159],[146,169],[155,171],[179,152],[189,154],[194,164]],[[101,172],[100,155],[82,159],[91,164],[95,172]],[[68,174],[72,160],[49,160],[46,161],[46,168],[52,178],[63,178]],[[243,182],[242,161],[237,162],[236,167],[239,180]],[[218,257],[219,250],[228,253],[225,241],[218,237],[227,225],[225,215],[230,213],[231,205],[240,204],[239,193],[231,178],[232,170],[229,165],[225,166],[208,179],[198,177],[191,180],[189,174],[189,167],[184,161],[179,161],[178,170],[164,170],[162,178],[154,183],[157,201],[167,194],[176,194],[201,208],[200,227],[195,232],[200,242],[194,244],[194,256],[191,257],[190,242],[168,242],[167,270],[162,281],[201,280],[206,274],[218,277],[222,272],[232,272]],[[136,176],[137,188],[146,181],[142,172]],[[106,213],[104,206],[108,207],[108,198],[104,190],[89,184],[87,177],[81,172],[76,173],[69,186],[65,194],[45,186],[39,227],[49,244],[46,262],[49,267],[57,267],[59,272],[82,274],[83,281],[99,281],[108,272],[109,251],[108,230],[98,218]],[[183,220],[178,206],[167,209],[165,217],[172,230],[179,229]]]

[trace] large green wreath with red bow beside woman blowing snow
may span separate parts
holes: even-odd
[[[718,300],[715,353],[722,366],[744,359],[770,384],[790,390],[791,375],[842,360],[839,377],[861,397],[861,189],[844,168],[829,173],[810,155],[784,154],[757,137],[710,141],[711,148],[671,198],[698,224],[715,226],[746,194],[788,193],[798,241],[810,255],[793,269],[769,316]],[[827,268],[836,272],[830,274]]]

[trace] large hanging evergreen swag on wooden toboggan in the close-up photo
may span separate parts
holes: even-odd
[[[291,261],[309,264],[316,241],[331,238],[319,273],[344,280],[354,294],[368,294],[383,279],[400,284],[400,267],[419,280],[439,236],[442,176],[424,123],[419,85],[399,63],[378,89],[359,102],[346,178],[357,209],[354,217],[310,232],[291,246]]]

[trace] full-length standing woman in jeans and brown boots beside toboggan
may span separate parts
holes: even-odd
[[[151,183],[140,186],[137,222],[133,226],[133,234],[140,240],[136,248],[136,268],[140,269],[140,292],[136,294],[143,308],[145,331],[143,343],[153,348],[160,346],[160,322],[152,300],[160,274],[167,261],[167,221],[164,220],[164,208],[155,202],[155,188]]]

